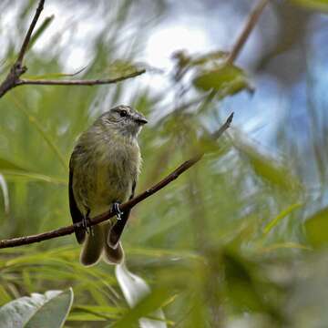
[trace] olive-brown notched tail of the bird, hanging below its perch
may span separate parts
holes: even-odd
[[[108,222],[92,227],[92,233],[87,234],[80,254],[80,261],[83,265],[96,264],[101,255],[103,260],[110,264],[118,264],[123,260],[124,251],[121,244],[119,243],[116,249],[108,245],[109,230],[110,224]]]

